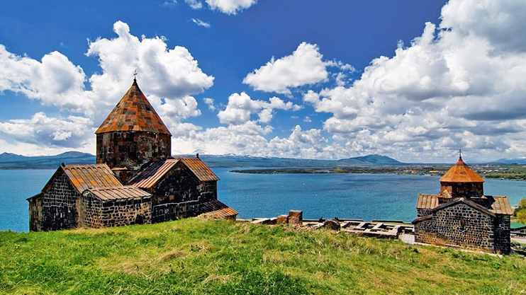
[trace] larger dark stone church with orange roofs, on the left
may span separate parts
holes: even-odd
[[[30,231],[150,224],[199,214],[235,219],[201,159],[173,158],[172,134],[137,80],[96,130],[96,164],[62,165],[28,198]]]

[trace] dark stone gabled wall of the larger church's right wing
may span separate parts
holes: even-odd
[[[152,223],[197,216],[201,204],[218,199],[217,182],[201,183],[184,164],[179,163],[150,192]]]

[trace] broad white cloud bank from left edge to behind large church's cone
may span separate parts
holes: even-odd
[[[89,42],[86,54],[97,57],[101,67],[87,79],[90,90],[84,88],[83,69],[64,54],[50,52],[38,61],[0,45],[0,91],[21,93],[75,114],[62,118],[38,112],[30,119],[0,122],[0,141],[15,150],[16,146],[26,150],[43,146],[40,151],[45,152],[65,147],[86,150],[94,144],[96,127],[131,86],[134,71],[141,90],[170,129],[201,129],[181,121],[201,115],[192,95],[210,88],[214,77],[201,71],[185,47],[169,49],[164,37],[139,39],[121,21],[114,23],[113,30],[117,37]]]

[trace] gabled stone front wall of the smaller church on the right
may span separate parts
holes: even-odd
[[[445,207],[415,224],[415,242],[495,251],[493,216],[464,203]]]

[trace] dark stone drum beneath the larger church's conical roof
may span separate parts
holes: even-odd
[[[106,163],[110,168],[130,161],[141,166],[168,158],[171,153],[169,134],[106,132],[96,135],[96,163]]]

